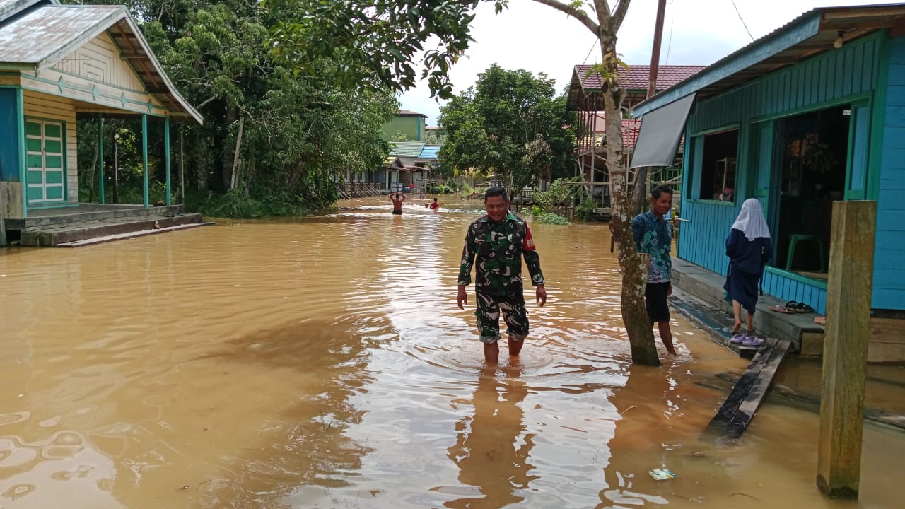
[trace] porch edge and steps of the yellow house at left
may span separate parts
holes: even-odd
[[[99,208],[79,206],[56,209],[59,213],[42,211],[43,214],[27,219],[7,219],[6,224],[7,228],[21,231],[21,245],[37,247],[78,247],[213,225],[205,222],[200,214],[186,213],[181,205]]]

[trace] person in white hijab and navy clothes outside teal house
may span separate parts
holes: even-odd
[[[760,346],[764,340],[754,335],[754,311],[757,305],[757,282],[764,274],[773,246],[764,209],[756,198],[748,198],[741,206],[736,222],[726,239],[729,274],[723,288],[732,299],[735,326],[729,342],[744,346]],[[748,312],[748,327],[741,333],[741,308]]]

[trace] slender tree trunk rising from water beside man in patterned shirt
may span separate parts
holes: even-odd
[[[605,62],[605,72],[614,76],[618,63],[614,58],[615,36],[601,30],[600,43]],[[608,56],[609,55],[609,56]],[[632,206],[626,190],[628,171],[623,160],[622,105],[625,91],[618,84],[604,92],[606,122],[606,167],[610,176],[610,193],[613,217],[610,231],[616,245],[616,255],[623,274],[621,309],[628,341],[632,345],[632,361],[646,366],[659,366],[660,357],[653,341],[653,327],[644,307],[644,285],[650,255],[640,255],[635,250],[632,235]]]

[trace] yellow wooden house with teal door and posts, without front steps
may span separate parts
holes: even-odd
[[[85,114],[142,119],[146,208],[148,118],[165,121],[170,205],[170,119],[202,118],[126,7],[0,0],[0,207],[7,218],[78,206],[76,139],[99,136],[77,131],[76,116]],[[102,172],[101,164],[100,182]]]

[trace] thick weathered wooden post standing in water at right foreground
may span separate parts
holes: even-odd
[[[877,203],[833,204],[817,487],[858,498]]]

